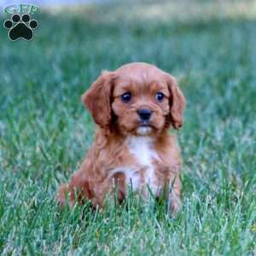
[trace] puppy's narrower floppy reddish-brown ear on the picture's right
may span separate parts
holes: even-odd
[[[170,122],[175,129],[183,125],[183,111],[186,105],[185,97],[177,86],[177,79],[166,73],[168,88],[170,90]]]

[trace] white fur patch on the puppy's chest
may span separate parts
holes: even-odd
[[[159,156],[153,148],[152,138],[150,137],[129,137],[127,138],[127,146],[130,153],[136,158],[137,163],[145,168],[143,172],[143,180],[153,192],[156,192],[157,188],[154,185],[155,174],[153,160],[159,160]],[[134,169],[126,169],[126,178],[132,183],[133,189],[138,189],[140,186],[140,179],[138,175],[142,173],[134,172]]]

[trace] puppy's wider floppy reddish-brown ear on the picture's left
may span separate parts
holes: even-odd
[[[110,98],[115,77],[113,72],[103,72],[82,96],[85,107],[90,111],[96,124],[102,128],[107,128],[111,121]]]

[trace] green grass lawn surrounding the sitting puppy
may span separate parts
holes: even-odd
[[[0,253],[256,254],[255,6],[174,3],[44,12],[32,42],[0,30]],[[55,190],[93,140],[80,96],[131,61],[172,73],[187,98],[183,209],[170,218],[131,198],[60,211]]]

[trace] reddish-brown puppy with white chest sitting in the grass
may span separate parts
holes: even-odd
[[[183,125],[185,99],[172,75],[147,63],[103,72],[82,96],[96,123],[96,137],[79,171],[58,190],[61,205],[91,201],[103,207],[106,195],[119,202],[128,188],[159,198],[170,210],[181,205],[181,156],[169,128]],[[148,193],[150,191],[150,194]]]

